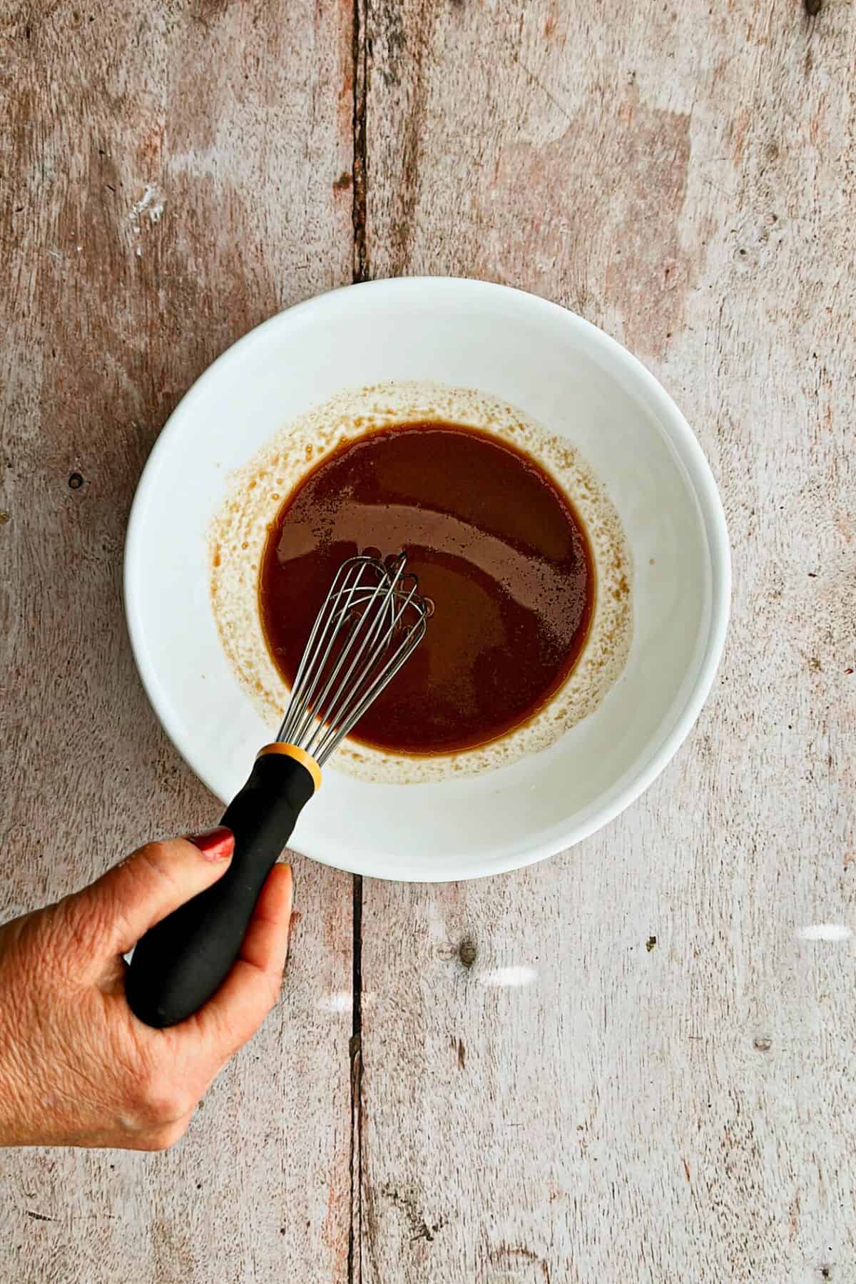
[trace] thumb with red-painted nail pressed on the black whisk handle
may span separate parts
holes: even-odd
[[[219,826],[190,838],[146,842],[68,907],[83,936],[96,935],[100,953],[126,954],[154,923],[210,887],[228,869],[235,847]]]

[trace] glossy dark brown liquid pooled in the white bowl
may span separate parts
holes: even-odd
[[[592,620],[592,553],[567,498],[521,451],[477,429],[407,424],[345,443],[300,482],[259,575],[267,645],[289,686],[336,570],[367,547],[406,551],[435,611],[357,740],[472,749],[536,714],[574,668]]]

